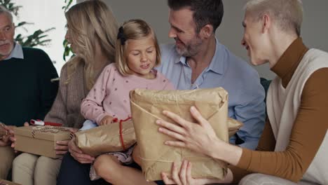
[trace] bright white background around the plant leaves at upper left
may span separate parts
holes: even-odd
[[[62,10],[62,6],[65,5],[64,0],[14,0],[13,2],[17,6],[22,6],[18,14],[19,18],[14,18],[14,22],[16,24],[22,21],[34,23],[33,25],[26,26],[28,32],[17,28],[15,30],[16,35],[22,34],[26,36],[33,34],[37,29],[45,30],[55,27],[54,30],[47,33],[49,35],[47,39],[52,39],[51,43],[48,46],[36,46],[36,48],[46,51],[50,59],[53,60],[58,74],[60,74],[60,69],[64,65],[62,41],[64,41],[64,35],[66,34],[66,19]],[[67,57],[68,59],[69,57]]]

